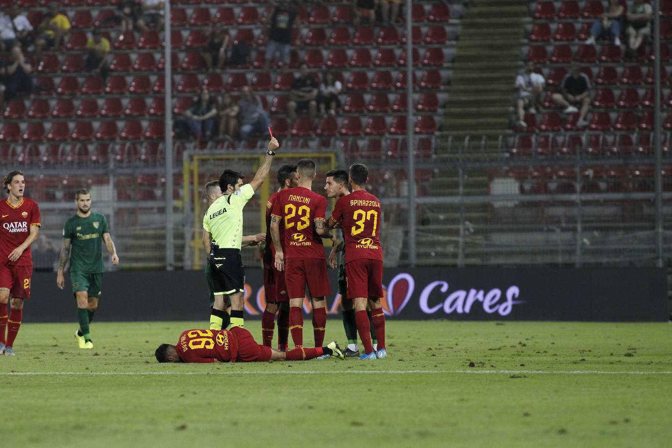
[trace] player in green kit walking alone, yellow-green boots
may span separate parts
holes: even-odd
[[[70,260],[70,281],[77,300],[77,320],[79,329],[75,332],[80,349],[93,349],[89,325],[103,285],[102,244],[112,256],[112,264],[119,264],[116,247],[110,236],[105,215],[91,211],[91,193],[82,188],[75,192],[77,214],[63,226],[63,247],[60,250],[56,286],[65,287],[63,271]]]

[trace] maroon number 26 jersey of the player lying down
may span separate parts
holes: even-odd
[[[236,362],[238,341],[226,330],[186,330],[175,345],[185,363]]]

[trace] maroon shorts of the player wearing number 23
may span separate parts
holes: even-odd
[[[296,259],[285,262],[285,281],[290,299],[306,295],[306,283],[310,297],[324,297],[331,294],[327,260],[318,258]]]

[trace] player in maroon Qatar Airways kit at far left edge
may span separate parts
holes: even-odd
[[[33,273],[30,245],[38,238],[42,224],[37,202],[24,197],[24,173],[19,170],[8,173],[3,189],[9,197],[0,202],[0,355],[14,355],[24,300],[30,298]],[[7,302],[10,302],[9,314]]]

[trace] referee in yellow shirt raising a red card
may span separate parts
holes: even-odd
[[[231,301],[231,328],[244,327],[243,292],[245,269],[241,260],[243,240],[243,208],[259,189],[271,168],[271,161],[280,147],[276,138],[268,142],[266,156],[254,179],[243,185],[243,173],[224,170],[219,177],[222,196],[212,203],[203,217],[203,229],[215,240],[210,249],[210,269],[214,281],[214,306],[210,315],[210,330],[221,330],[226,300]]]

